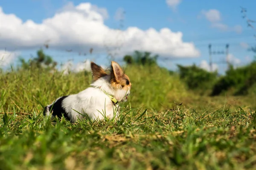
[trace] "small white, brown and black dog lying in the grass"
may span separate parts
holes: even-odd
[[[112,119],[119,115],[119,102],[127,101],[131,82],[117,62],[112,61],[110,72],[101,66],[90,63],[93,82],[91,87],[78,94],[61,96],[44,107],[44,116],[54,119],[63,116],[75,123],[78,119]]]

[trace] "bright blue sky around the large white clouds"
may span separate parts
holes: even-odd
[[[182,42],[194,43],[196,50],[200,52],[197,56],[195,56],[195,54],[194,56],[186,57],[188,53],[193,53],[193,49],[186,54],[181,54],[182,51],[176,50],[175,45],[175,47],[172,47],[172,50],[177,51],[179,55],[170,52],[170,50],[167,50],[163,55],[160,54],[160,56],[163,57],[160,57],[159,63],[169,69],[175,69],[177,63],[183,65],[196,63],[197,65],[201,64],[202,67],[207,68],[206,63],[209,61],[209,43],[212,44],[213,50],[221,51],[225,50],[225,44],[229,43],[230,60],[237,65],[250,62],[250,60],[253,59],[253,53],[247,51],[246,47],[256,44],[256,40],[253,38],[253,34],[256,34],[256,31],[252,28],[248,28],[245,20],[241,18],[240,6],[247,8],[248,17],[256,20],[256,11],[254,9],[256,3],[253,1],[254,0],[1,0],[0,7],[4,14],[14,14],[17,18],[22,20],[23,23],[27,20],[32,20],[35,24],[40,25],[43,20],[54,17],[56,12],[59,12],[60,9],[64,10],[63,7],[67,6],[70,2],[73,3],[73,6],[89,2],[107,11],[104,25],[113,29],[119,28],[119,22],[115,20],[115,17],[118,15],[116,11],[122,8],[125,11],[122,28],[124,31],[130,27],[137,27],[142,31],[147,31],[149,28],[154,28],[156,31],[160,31],[162,28],[169,28],[174,34],[177,32],[183,34]],[[63,22],[65,22],[65,20]],[[0,24],[3,26],[12,23]],[[65,28],[67,27],[68,25],[65,25]],[[128,32],[125,32],[125,34],[128,34]],[[137,34],[135,37],[138,37]],[[170,39],[172,39],[172,37],[170,37]],[[4,37],[1,41],[0,36],[0,48],[3,50],[5,42],[11,40],[15,41],[13,38],[9,37]],[[18,42],[25,43],[25,39],[22,40],[24,41],[20,39]],[[132,40],[135,41],[135,39]],[[132,43],[132,40],[129,43]],[[26,43],[27,41],[28,40],[26,40]],[[140,40],[138,41],[140,42]],[[17,47],[15,46],[15,48],[18,49],[19,54],[25,58],[31,57],[31,54],[35,55],[36,50],[40,47],[40,45],[26,45],[26,48],[24,48],[20,47],[18,42],[12,42],[11,44],[13,46],[16,45]],[[152,42],[154,41],[152,40]],[[72,44],[71,42],[68,44],[71,46],[78,45],[76,43]],[[172,43],[170,42],[170,44]],[[84,42],[83,45],[89,44]],[[150,46],[142,49],[151,48]],[[7,50],[13,51],[13,49],[9,46]],[[68,59],[74,59],[74,62],[80,62],[85,59],[78,55],[78,50],[75,51],[67,53],[64,51],[64,48],[62,49],[57,46],[55,48],[53,45],[53,48],[47,49],[46,53],[52,55],[54,59],[59,62],[66,62]],[[92,56],[87,55],[86,57],[96,58],[96,62],[99,64],[108,65],[108,60],[105,59],[105,56],[106,52],[101,51],[101,53]],[[120,60],[120,58],[117,60]],[[218,65],[219,71],[223,72],[226,65],[219,64],[218,62],[221,60],[225,60],[224,55],[213,56],[213,62],[215,62],[215,65]]]

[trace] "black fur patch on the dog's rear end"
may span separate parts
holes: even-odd
[[[61,98],[59,98],[58,100],[55,101],[55,103],[53,103],[52,105],[46,106],[44,108],[44,116],[45,116],[45,112],[47,111],[47,108],[49,109],[50,113],[52,111],[52,115],[53,116],[58,116],[59,119],[61,119],[62,114],[64,115],[65,119],[70,121],[70,117],[67,115],[66,111],[64,110],[64,108],[62,108],[62,102],[63,100],[66,98],[67,96],[62,96]]]

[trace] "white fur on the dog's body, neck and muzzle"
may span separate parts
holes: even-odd
[[[63,100],[62,108],[71,118],[70,122],[76,122],[78,118],[83,119],[85,116],[81,114],[87,114],[90,119],[104,119],[104,115],[109,118],[113,118],[114,114],[116,114],[116,117],[118,116],[119,105],[113,105],[111,99],[103,91],[113,95],[121,102],[126,100],[125,96],[130,94],[130,89],[128,91],[124,89],[116,90],[109,83],[109,79],[108,76],[102,77],[93,82],[90,88],[78,94],[67,96]],[[49,109],[47,109],[46,115],[50,115]]]

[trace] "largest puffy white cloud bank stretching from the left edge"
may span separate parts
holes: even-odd
[[[181,32],[172,32],[169,28],[159,31],[148,28],[144,31],[128,27],[120,33],[104,24],[107,17],[105,8],[90,3],[78,6],[69,3],[53,17],[38,24],[32,20],[23,22],[14,14],[5,14],[0,7],[0,49],[38,48],[50,40],[49,48],[77,52],[93,48],[93,53],[105,54],[106,46],[110,51],[120,47],[116,38],[122,35],[122,48],[117,50],[119,57],[134,50],[151,51],[163,57],[200,55],[192,42],[183,42]]]

